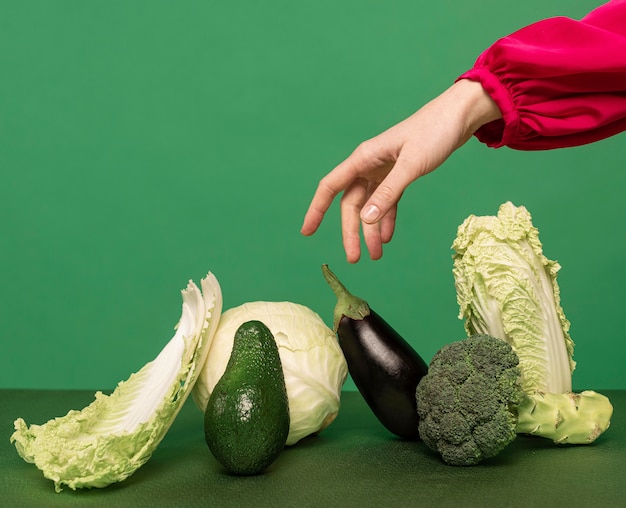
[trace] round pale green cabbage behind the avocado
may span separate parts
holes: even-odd
[[[250,320],[274,335],[289,398],[287,445],[320,432],[339,412],[348,367],[335,333],[310,308],[292,302],[248,302],[225,311],[192,395],[204,411],[233,348],[235,332]]]

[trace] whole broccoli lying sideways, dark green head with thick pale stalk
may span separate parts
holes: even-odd
[[[472,335],[433,356],[416,390],[419,434],[455,466],[494,457],[521,433],[557,443],[571,442],[572,436],[591,442],[608,427],[612,413],[593,393],[529,396],[513,348],[490,335]],[[595,417],[577,418],[582,405]]]

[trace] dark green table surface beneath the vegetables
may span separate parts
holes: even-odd
[[[603,393],[615,412],[593,445],[518,437],[495,459],[457,468],[422,443],[395,439],[357,392],[346,392],[328,429],[286,449],[265,474],[244,478],[213,459],[190,400],[152,459],[125,482],[57,494],[9,443],[13,421],[43,423],[84,407],[93,391],[0,390],[0,506],[626,506],[626,391]]]

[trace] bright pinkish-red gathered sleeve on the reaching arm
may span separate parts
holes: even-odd
[[[549,18],[495,42],[458,79],[479,81],[502,112],[476,137],[547,150],[626,130],[626,0],[581,20]]]

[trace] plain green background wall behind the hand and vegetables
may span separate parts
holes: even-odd
[[[291,300],[330,323],[325,262],[429,360],[463,336],[457,226],[512,200],[563,266],[575,388],[626,388],[624,135],[542,153],[470,141],[406,192],[378,262],[345,262],[336,205],[299,234],[360,141],[498,37],[595,5],[0,0],[0,387],[113,387],[209,270],[225,308]]]

